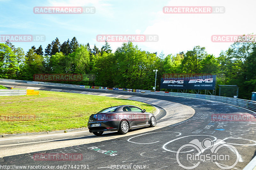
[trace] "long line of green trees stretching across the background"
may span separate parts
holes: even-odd
[[[204,47],[178,54],[149,53],[132,42],[123,43],[112,53],[108,42],[100,49],[79,44],[74,37],[62,44],[56,38],[43,50],[32,46],[25,54],[11,42],[0,44],[0,78],[33,81],[34,74],[94,74],[95,81],[58,82],[104,87],[152,90],[157,72],[157,90],[165,73],[217,74],[217,84],[238,85],[239,98],[250,99],[256,91],[256,44],[236,42],[219,57]],[[218,88],[218,86],[217,86]]]

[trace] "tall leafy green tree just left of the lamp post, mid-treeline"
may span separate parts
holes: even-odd
[[[153,69],[158,68],[160,58],[154,53],[141,51],[132,42],[123,43],[115,52],[114,83],[119,87],[150,88],[154,81]]]

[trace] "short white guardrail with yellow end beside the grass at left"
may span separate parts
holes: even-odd
[[[23,89],[0,89],[0,96],[25,96],[25,95],[38,95],[39,91],[23,90]]]

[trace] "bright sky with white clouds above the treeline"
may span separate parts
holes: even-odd
[[[94,44],[98,34],[156,34],[157,42],[134,43],[142,50],[176,54],[204,46],[208,53],[219,56],[232,43],[216,43],[216,34],[255,33],[254,0],[0,0],[0,34],[44,34],[45,42],[13,42],[25,52],[31,46],[43,46],[56,37],[60,42],[72,39]],[[95,14],[34,14],[35,6],[94,6]],[[224,14],[164,14],[164,6],[224,6]],[[121,42],[110,42],[112,50]]]

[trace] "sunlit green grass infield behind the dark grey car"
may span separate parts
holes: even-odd
[[[131,104],[154,113],[156,108],[141,102],[105,96],[40,91],[31,96],[0,96],[0,134],[42,132],[87,127],[91,114],[116,105]],[[31,116],[26,121],[6,117]]]

